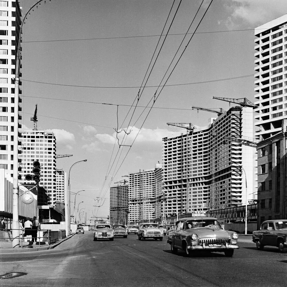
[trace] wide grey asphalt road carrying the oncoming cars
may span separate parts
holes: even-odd
[[[37,252],[1,254],[0,286],[286,286],[287,253],[265,247],[258,251],[251,237],[240,237],[233,257],[223,253],[187,258],[170,245],[137,235],[114,241],[93,241],[92,232],[76,234],[58,247]]]

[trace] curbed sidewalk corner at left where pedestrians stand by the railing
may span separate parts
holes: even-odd
[[[17,248],[11,248],[12,246],[12,241],[8,242],[2,242],[0,241],[0,254],[1,253],[17,253],[17,252],[31,252],[31,251],[42,251],[42,250],[48,250],[48,249],[53,249],[62,242],[68,240],[72,236],[74,236],[75,233],[68,235],[66,238],[61,239],[55,243],[51,243],[51,245],[48,245],[46,242],[45,245],[38,245],[33,243],[33,245],[29,244],[29,242],[23,242],[23,248],[22,248],[22,243],[20,242],[20,247]],[[38,242],[37,242],[38,243]]]

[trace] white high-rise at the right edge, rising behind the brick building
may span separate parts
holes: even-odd
[[[255,28],[255,126],[267,139],[287,118],[287,15]]]

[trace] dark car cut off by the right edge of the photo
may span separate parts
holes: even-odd
[[[287,251],[287,220],[266,220],[262,222],[260,230],[252,232],[252,241],[258,250],[264,246],[276,246],[281,253]]]

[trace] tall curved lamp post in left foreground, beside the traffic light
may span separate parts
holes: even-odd
[[[22,28],[27,20],[27,15],[30,11],[37,6],[41,5],[40,2],[43,0],[38,0],[34,5],[30,7],[25,16],[22,18],[22,23],[19,29],[19,39],[16,52],[16,66],[15,66],[15,91],[14,91],[14,131],[13,131],[13,221],[12,221],[12,247],[20,247],[20,237],[19,237],[19,210],[18,210],[18,112],[19,112],[19,67],[20,67],[20,51],[21,51],[21,34]],[[46,3],[46,1],[45,1]],[[38,6],[37,6],[38,8]],[[34,10],[33,10],[34,11]]]

